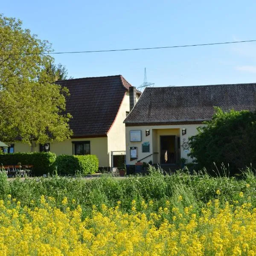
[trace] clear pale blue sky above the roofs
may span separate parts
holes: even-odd
[[[256,1],[9,0],[0,12],[57,52],[162,47],[256,39]],[[256,82],[256,42],[54,55],[74,78],[121,74],[140,86]]]

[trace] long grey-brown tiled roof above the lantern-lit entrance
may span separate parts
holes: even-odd
[[[211,119],[213,106],[254,111],[256,84],[147,87],[125,123],[200,122]]]

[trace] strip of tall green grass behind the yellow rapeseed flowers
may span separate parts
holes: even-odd
[[[166,200],[173,207],[183,209],[193,205],[197,209],[216,198],[221,204],[227,201],[234,204],[244,198],[244,201],[249,200],[256,207],[256,177],[251,168],[247,168],[240,179],[228,175],[210,177],[205,171],[200,175],[183,172],[163,175],[160,169],[151,168],[149,173],[145,177],[132,176],[125,179],[102,175],[91,180],[53,176],[25,180],[17,178],[12,181],[8,181],[5,174],[0,174],[0,199],[6,200],[10,194],[22,206],[31,207],[39,205],[41,195],[45,195],[54,197],[56,207],[61,207],[61,201],[67,197],[70,208],[80,204],[84,215],[90,213],[92,205],[98,209],[101,209],[102,204],[114,207],[117,201],[121,201],[120,208],[124,212],[129,212],[133,200],[138,210],[142,209],[143,201],[152,201],[151,211],[164,207]],[[243,198],[240,192],[243,192]],[[72,199],[76,204],[71,203]]]

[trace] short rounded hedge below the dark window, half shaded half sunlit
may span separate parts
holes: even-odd
[[[74,175],[76,172],[87,175],[98,171],[99,160],[96,155],[62,154],[56,158],[55,166],[60,175]]]

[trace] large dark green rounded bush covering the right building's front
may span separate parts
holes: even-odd
[[[199,167],[216,171],[224,163],[231,174],[246,166],[256,168],[256,113],[223,112],[215,108],[212,120],[198,127],[198,134],[189,138],[190,157]],[[214,165],[215,163],[215,165]]]

